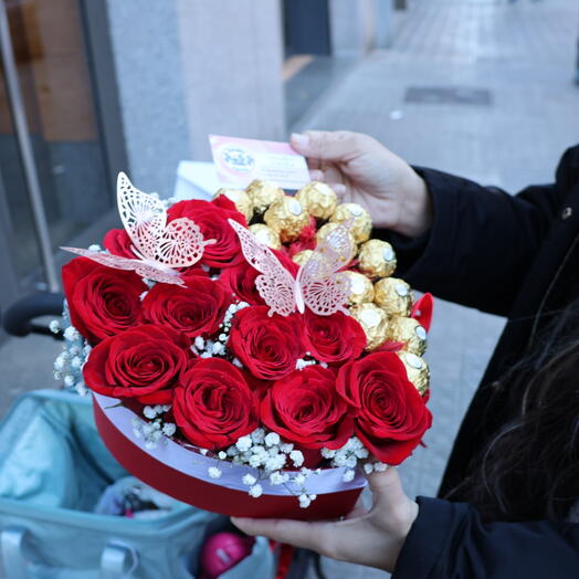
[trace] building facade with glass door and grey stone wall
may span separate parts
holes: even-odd
[[[117,223],[119,170],[167,197],[179,160],[210,158],[209,133],[287,138],[288,78],[386,46],[392,14],[393,0],[0,0],[0,310],[56,288],[60,245]]]

